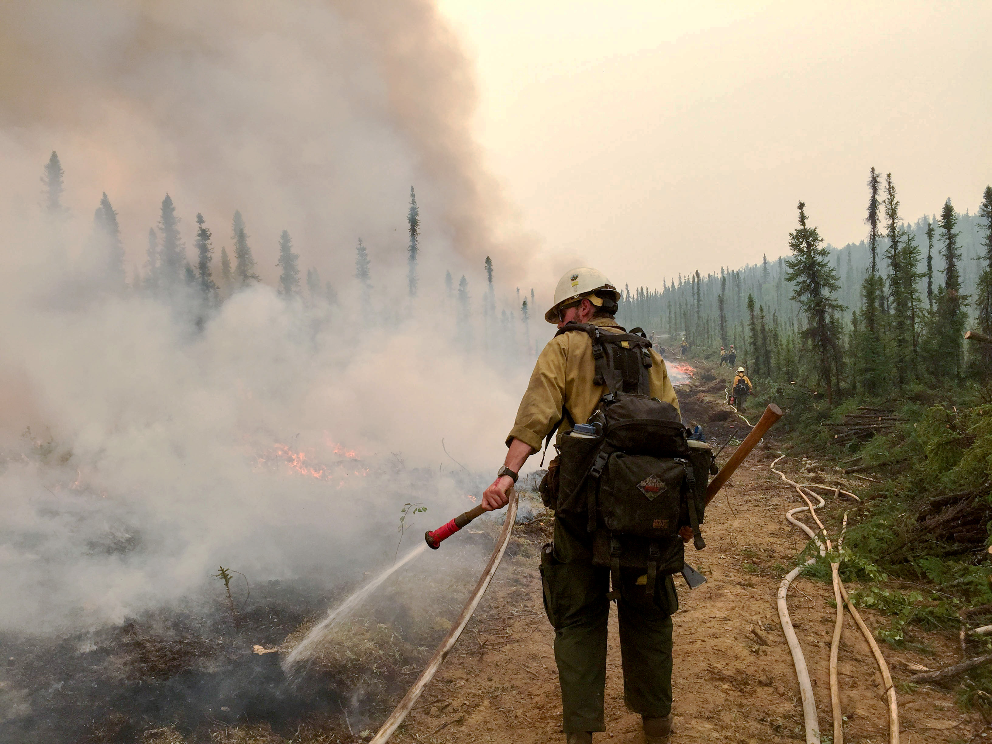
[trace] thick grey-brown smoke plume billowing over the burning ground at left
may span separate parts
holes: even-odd
[[[471,105],[424,2],[0,5],[0,630],[118,621],[221,563],[351,579],[392,558],[405,503],[431,522],[468,504],[537,344],[481,271],[486,255],[497,280],[515,267]],[[53,149],[67,208],[46,214]],[[127,288],[93,255],[103,191]],[[269,284],[222,303],[145,287],[167,191],[187,260],[202,212],[216,276],[239,209]],[[336,303],[271,287],[283,229]],[[449,293],[444,271],[466,267]]]

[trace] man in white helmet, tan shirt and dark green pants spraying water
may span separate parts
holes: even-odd
[[[620,293],[599,271],[572,269],[558,282],[555,305],[545,319],[559,328],[574,321],[594,324],[607,333],[623,332],[614,318],[619,299]],[[651,395],[678,409],[665,362],[654,350],[651,361]],[[592,342],[586,333],[562,333],[549,341],[507,437],[503,467],[483,494],[483,506],[492,510],[507,504],[520,468],[547,435],[556,429],[558,436],[570,431],[569,420],[575,424],[588,420],[607,390],[595,384],[594,374]],[[682,529],[682,540],[691,535],[689,528]],[[542,583],[548,618],[555,626],[562,730],[567,744],[588,744],[593,731],[605,730],[610,569],[592,564],[592,535],[584,517],[558,515],[554,543],[546,551],[549,563],[542,562]],[[648,596],[640,573],[622,569],[617,601],[624,697],[627,707],[642,716],[644,741],[665,744],[671,741],[672,613],[678,598],[671,575],[659,579],[653,596]]]

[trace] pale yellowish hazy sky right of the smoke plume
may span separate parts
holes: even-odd
[[[916,219],[992,183],[992,3],[439,0],[489,168],[542,238],[661,285],[787,252],[796,202],[862,239],[865,181]]]

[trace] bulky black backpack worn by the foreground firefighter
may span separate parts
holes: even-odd
[[[659,574],[682,571],[680,527],[692,528],[696,550],[705,547],[699,523],[712,452],[689,439],[672,404],[650,396],[651,342],[643,330],[614,333],[567,323],[558,334],[568,332],[589,335],[593,382],[607,392],[589,417],[591,434],[572,430],[558,437],[557,498],[550,506],[585,517],[592,562],[611,569],[610,599],[619,595],[621,567],[644,568],[645,589],[653,595]]]

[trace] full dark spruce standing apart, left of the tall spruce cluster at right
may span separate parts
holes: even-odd
[[[806,224],[806,203],[799,202],[800,226],[789,234],[793,252],[786,259],[789,274],[786,280],[795,290],[792,299],[803,308],[806,328],[801,335],[813,355],[820,382],[826,386],[827,404],[833,405],[834,381],[837,379],[837,357],[840,354],[840,323],[837,313],[846,310],[835,299],[840,287],[837,272],[830,266],[830,251],[820,247],[823,239],[815,227]]]

